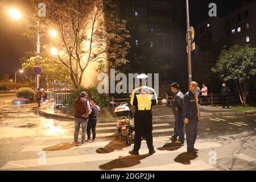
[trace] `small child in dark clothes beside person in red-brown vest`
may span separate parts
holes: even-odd
[[[88,125],[87,125],[87,143],[96,142],[96,124],[97,124],[97,114],[98,107],[96,105],[96,98],[90,97],[90,109],[92,112],[89,114]],[[92,130],[93,138],[90,140],[90,130]]]

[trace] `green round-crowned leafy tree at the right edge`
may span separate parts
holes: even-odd
[[[225,46],[212,71],[224,81],[235,81],[240,100],[243,106],[247,106],[250,82],[256,75],[256,48],[249,45]]]

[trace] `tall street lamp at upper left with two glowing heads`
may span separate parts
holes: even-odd
[[[11,18],[14,18],[14,19],[19,19],[21,18],[21,14],[19,13],[19,10],[16,10],[16,9],[9,9],[8,10],[8,13],[9,15],[11,16]],[[38,19],[35,19],[34,17],[32,16],[28,16],[28,15],[23,15],[23,16],[26,16],[28,18],[31,18],[32,20],[34,20],[36,22],[36,24],[38,25],[39,27],[39,20]],[[46,34],[39,34],[39,30],[37,32],[37,37],[38,37],[38,42],[36,42],[36,52],[37,53],[40,53],[40,37],[43,36],[43,35],[46,35]],[[56,31],[54,30],[51,30],[49,32],[49,34],[53,37],[55,37],[57,35]],[[36,56],[39,58],[39,56]],[[36,75],[36,88],[39,88],[39,75]]]

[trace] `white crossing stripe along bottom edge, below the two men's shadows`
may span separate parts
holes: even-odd
[[[191,164],[188,165],[184,165],[181,163],[173,163],[161,166],[133,168],[128,169],[128,171],[155,171],[156,169],[159,171],[201,171],[211,168],[213,168],[213,166],[210,166],[210,164],[203,162],[203,160],[192,160]]]

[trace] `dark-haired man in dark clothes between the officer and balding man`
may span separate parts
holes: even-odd
[[[171,140],[174,141],[176,144],[183,144],[184,143],[184,122],[183,122],[183,93],[179,90],[179,85],[174,82],[171,84],[171,91],[174,93],[172,97],[171,104],[172,104],[172,111],[174,113],[175,118],[175,127],[174,127],[174,134],[171,136]],[[179,137],[179,139],[177,139]]]

